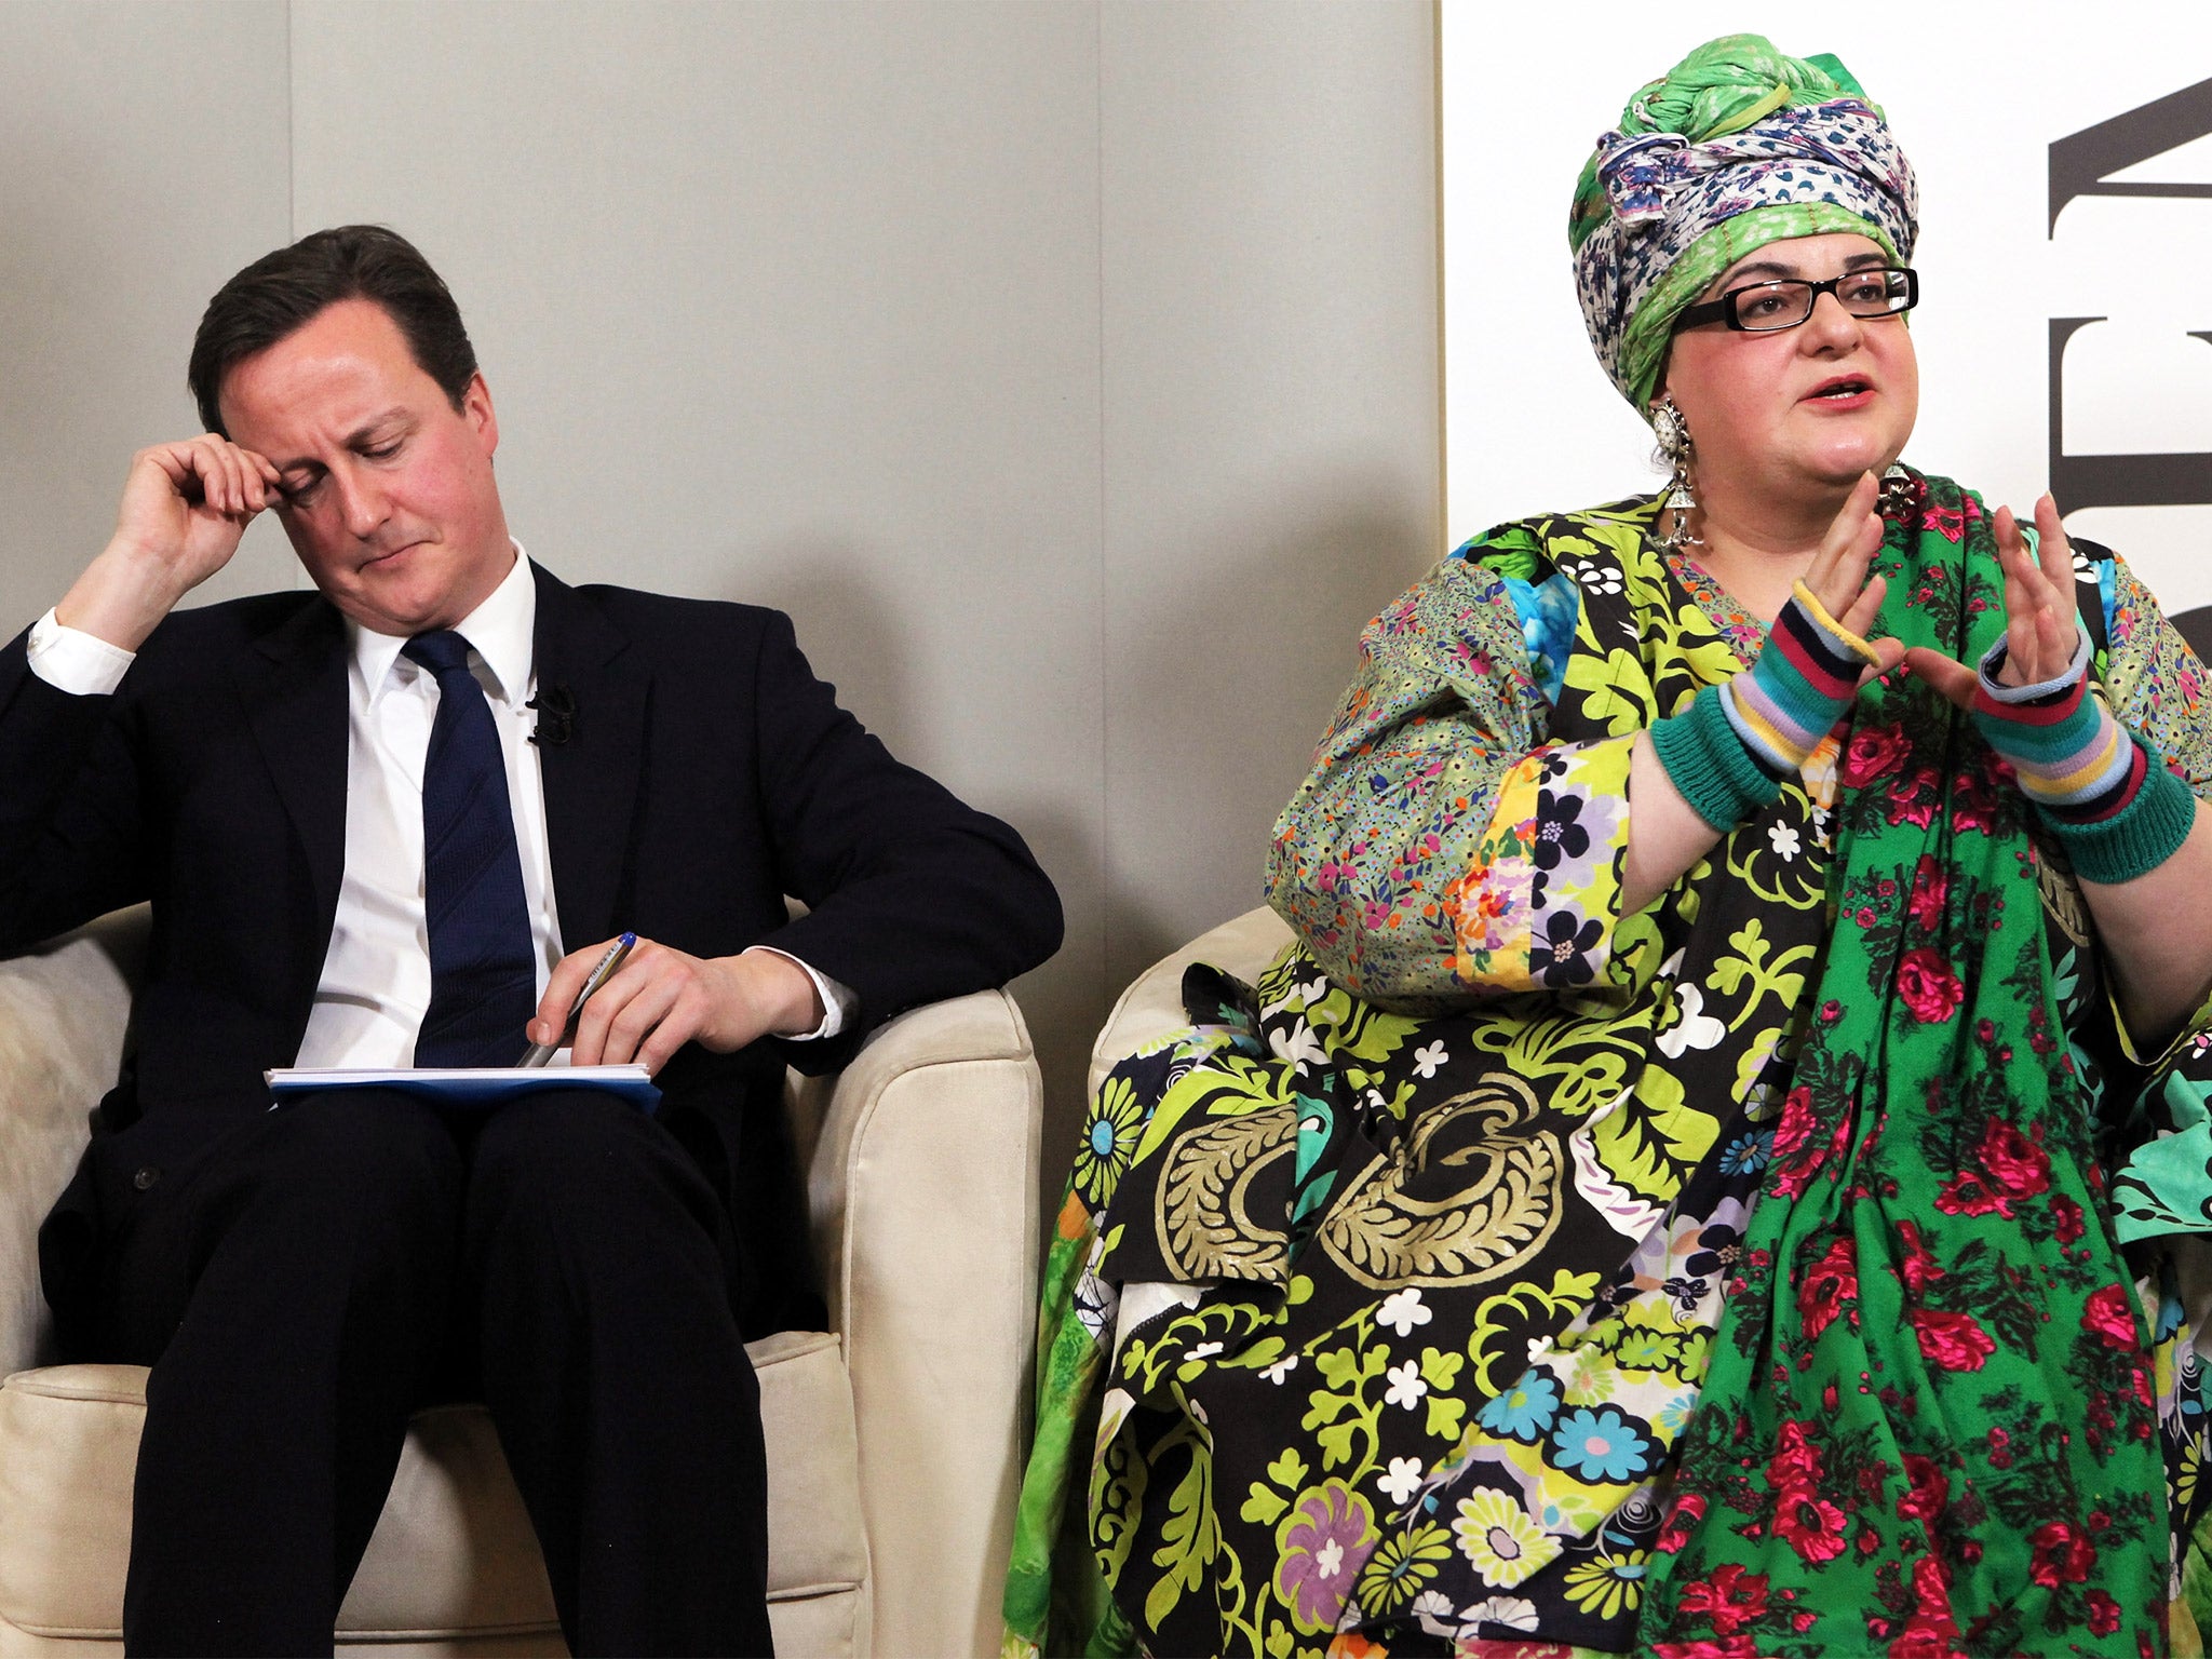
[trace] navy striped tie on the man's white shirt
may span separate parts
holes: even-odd
[[[438,719],[422,765],[422,909],[429,920],[429,1011],[418,1066],[511,1066],[538,1011],[522,854],[507,763],[469,641],[425,633],[403,655],[438,677]]]

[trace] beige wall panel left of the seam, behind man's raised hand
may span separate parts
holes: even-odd
[[[199,310],[285,239],[283,4],[0,4],[0,157],[4,639],[108,540],[131,453],[199,429]],[[195,602],[294,568],[257,526]]]

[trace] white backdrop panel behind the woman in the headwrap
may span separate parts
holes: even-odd
[[[1568,199],[1637,86],[1701,40],[1761,27],[1783,51],[1843,58],[1920,175],[1922,405],[1905,458],[1991,504],[2024,509],[2059,484],[2068,524],[2117,546],[2168,611],[2212,604],[2212,7],[2199,0],[1949,0],[1902,20],[1719,0],[1444,0],[1451,540],[1657,487],[1650,431],[1582,327]],[[2124,161],[2104,177],[2157,195],[2066,199],[2053,186],[2055,144],[2161,100],[2062,153],[2062,166]],[[2062,356],[2064,449],[2168,456],[2152,471],[2183,502],[2081,507],[2112,469],[2053,467],[2053,319],[2106,319]]]

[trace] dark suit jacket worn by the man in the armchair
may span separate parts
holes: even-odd
[[[566,741],[540,717],[566,949],[772,942],[858,993],[834,1040],[692,1044],[659,1077],[737,1223],[745,1334],[818,1323],[781,1068],[1035,967],[1060,900],[1011,827],[836,706],[781,613],[535,577],[540,701],[573,706]],[[263,1110],[261,1071],[299,1053],[345,860],[347,664],[319,593],[170,615],[113,697],[46,686],[24,637],[0,653],[0,953],[153,900],[135,1057],[42,1234],[64,1347],[137,1170]]]

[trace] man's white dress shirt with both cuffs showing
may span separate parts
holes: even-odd
[[[515,564],[491,595],[453,628],[469,650],[469,668],[491,703],[507,761],[507,799],[522,856],[522,902],[531,918],[538,995],[562,960],[560,914],[553,896],[553,856],[546,845],[544,781],[531,732],[538,712],[535,637],[538,584],[515,544]],[[411,657],[407,641],[374,633],[347,617],[347,752],[345,752],[345,876],[330,929],[330,953],[314,989],[301,1066],[409,1066],[416,1033],[429,1009],[429,927],[422,911],[422,765],[438,681]],[[31,672],[77,697],[113,692],[133,655],[106,639],[55,622],[53,611],[31,626]],[[754,947],[772,949],[772,947]],[[823,1022],[805,1037],[834,1037],[852,991],[816,973],[787,951],[823,1000]],[[520,1055],[526,1037],[515,1033]],[[555,1064],[566,1062],[566,1051]]]

